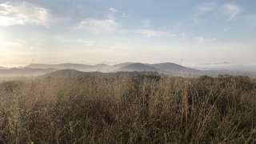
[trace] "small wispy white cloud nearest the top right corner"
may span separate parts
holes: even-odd
[[[229,17],[229,20],[233,19],[242,11],[241,7],[236,6],[234,4],[226,4],[222,6],[222,8],[225,11],[225,14]]]

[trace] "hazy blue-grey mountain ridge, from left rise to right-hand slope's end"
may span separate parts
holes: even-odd
[[[148,64],[148,63],[140,63],[140,62],[125,62],[119,63],[114,66],[109,66],[106,64],[98,64],[98,65],[85,65],[85,64],[72,64],[72,63],[63,63],[63,64],[54,64],[54,65],[46,65],[46,64],[30,64],[25,66],[28,68],[52,68],[57,70],[64,69],[73,69],[85,72],[91,71],[99,71],[105,73],[118,72],[118,71],[156,71],[162,74],[181,74],[181,75],[198,75],[202,74],[202,70],[196,70],[189,67],[181,66],[175,63],[165,62],[165,63],[157,63],[157,64]]]

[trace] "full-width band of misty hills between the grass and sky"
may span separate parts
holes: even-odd
[[[253,75],[254,73],[246,73],[241,71],[230,71],[230,70],[197,70],[186,66],[181,66],[171,62],[163,62],[156,64],[140,63],[140,62],[125,62],[119,63],[114,66],[106,64],[98,65],[86,65],[86,64],[76,64],[76,63],[62,63],[62,64],[30,64],[22,68],[10,68],[10,69],[0,69],[0,76],[38,76],[44,74],[50,74],[58,70],[76,70],[80,72],[102,72],[102,73],[114,73],[119,71],[153,71],[159,74],[170,74],[174,76],[200,76],[200,75],[210,75],[218,76],[218,74],[245,74]],[[63,72],[65,73],[65,72]],[[67,74],[78,74],[79,72],[69,72]],[[66,74],[66,73],[65,73]],[[65,75],[64,74],[64,75]],[[81,73],[79,73],[81,74]],[[78,75],[79,75],[78,74]]]

